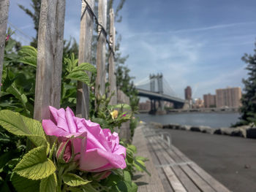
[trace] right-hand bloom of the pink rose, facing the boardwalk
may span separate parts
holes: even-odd
[[[110,129],[100,128],[98,123],[81,119],[87,131],[86,153],[82,155],[80,169],[86,172],[102,172],[109,169],[124,169],[126,148],[119,145],[119,137]],[[81,126],[78,123],[78,126]]]

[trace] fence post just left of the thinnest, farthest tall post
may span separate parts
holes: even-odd
[[[99,0],[98,5],[99,24],[104,28],[107,26],[107,0]],[[97,78],[96,78],[96,96],[105,94],[105,57],[106,57],[106,34],[102,31],[102,26],[98,26],[98,42],[97,42]]]

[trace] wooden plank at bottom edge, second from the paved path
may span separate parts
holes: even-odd
[[[200,188],[201,191],[214,192],[208,183],[201,178],[196,172],[194,172],[188,165],[182,165],[181,169],[189,176],[189,178]]]

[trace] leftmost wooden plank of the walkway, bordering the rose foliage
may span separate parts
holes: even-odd
[[[151,173],[151,177],[144,173],[137,172],[135,177],[139,177],[135,180],[138,186],[138,192],[162,192],[164,188],[162,186],[161,180],[159,179],[159,175],[157,174],[157,169],[155,168],[154,164],[152,163],[151,154],[148,151],[146,139],[143,136],[142,126],[138,126],[135,128],[135,135],[133,137],[132,145],[137,147],[137,154],[149,159],[146,161],[146,168],[148,172]]]

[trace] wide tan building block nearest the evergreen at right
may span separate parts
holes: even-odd
[[[241,88],[221,88],[216,90],[217,107],[240,107]]]

